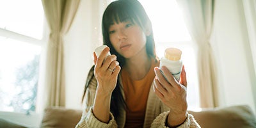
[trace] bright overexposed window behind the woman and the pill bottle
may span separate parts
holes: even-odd
[[[139,1],[152,22],[157,56],[162,58],[167,47],[177,47],[182,51],[182,61],[188,81],[188,106],[189,109],[199,108],[195,52],[177,2],[175,0]]]

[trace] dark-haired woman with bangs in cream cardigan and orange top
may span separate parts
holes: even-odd
[[[108,47],[93,53],[76,127],[200,127],[187,111],[184,67],[179,82],[166,67],[161,74],[152,25],[137,0],[109,4],[102,34]]]

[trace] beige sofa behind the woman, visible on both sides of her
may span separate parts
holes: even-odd
[[[205,128],[256,128],[256,118],[252,109],[246,105],[229,106],[225,108],[202,109],[202,111],[188,111],[201,127]],[[46,108],[42,128],[75,127],[83,111],[60,107]],[[2,122],[1,122],[2,121]],[[0,120],[1,127],[19,128],[22,126],[8,124]]]

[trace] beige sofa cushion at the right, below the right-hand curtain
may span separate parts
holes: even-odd
[[[248,106],[207,109],[200,112],[188,111],[201,127],[246,128],[256,127],[256,118]]]

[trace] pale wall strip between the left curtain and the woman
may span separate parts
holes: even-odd
[[[65,36],[64,67],[66,107],[81,109],[86,76],[92,67],[92,1],[81,0],[76,17]]]

